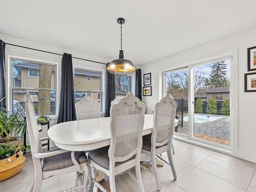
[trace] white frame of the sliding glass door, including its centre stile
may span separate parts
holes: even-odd
[[[188,60],[185,62],[180,62],[172,67],[160,68],[159,69],[159,75],[160,75],[159,82],[161,83],[161,86],[159,87],[159,93],[160,93],[159,98],[163,97],[166,93],[165,74],[168,73],[169,71],[188,67],[188,69],[190,71],[188,78],[189,78],[189,81],[192,83],[193,82],[192,77],[194,76],[194,68],[196,66],[204,65],[204,64],[207,64],[208,62],[216,62],[219,60],[226,60],[226,59],[230,60],[230,68],[229,68],[229,70],[230,70],[230,72],[229,72],[230,73],[230,82],[229,82],[230,83],[230,85],[229,85],[229,89],[230,89],[230,96],[229,96],[230,97],[230,145],[225,146],[225,145],[221,145],[218,143],[197,139],[194,137],[182,137],[176,133],[174,135],[174,138],[178,138],[178,139],[184,140],[189,143],[196,142],[199,146],[207,146],[208,148],[218,148],[219,151],[222,151],[222,150],[234,151],[234,150],[236,150],[236,148],[235,148],[236,146],[234,145],[234,142],[236,141],[234,137],[238,133],[238,126],[237,126],[237,120],[236,120],[237,119],[236,117],[238,115],[238,113],[237,113],[238,97],[236,94],[238,94],[238,90],[234,86],[234,84],[237,83],[237,81],[234,77],[236,77],[238,75],[238,70],[237,70],[238,69],[238,50],[236,48],[226,50],[221,53],[215,53],[215,54],[203,56],[200,58],[192,59],[190,61]],[[188,99],[190,99],[189,110],[192,112],[194,110],[193,87],[190,86],[188,93],[189,93]],[[194,111],[193,111],[193,113],[194,113]],[[193,122],[193,120],[194,120],[192,116],[193,115],[189,115],[190,122]],[[194,127],[192,129],[189,127],[189,129],[191,131],[193,131],[193,133],[194,133]]]

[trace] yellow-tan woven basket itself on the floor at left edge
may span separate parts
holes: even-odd
[[[17,154],[19,157],[16,157],[16,154],[14,154],[9,158],[0,160],[0,181],[9,179],[22,170],[26,157],[20,151]],[[11,162],[8,162],[8,159],[11,159]]]

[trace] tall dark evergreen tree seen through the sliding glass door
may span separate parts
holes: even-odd
[[[212,63],[210,66],[211,72],[209,75],[209,79],[206,82],[206,86],[212,88],[219,88],[219,87],[228,87],[229,80],[226,78],[227,74],[227,65],[225,61],[215,62]]]

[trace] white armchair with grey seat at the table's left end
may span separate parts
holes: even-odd
[[[41,141],[50,139],[49,137],[39,138],[37,120],[30,94],[26,95],[26,119],[35,170],[35,180],[30,191],[39,192],[42,180],[49,177],[83,170],[85,173],[83,191],[85,192],[90,172],[86,154],[84,152],[69,152],[60,149],[45,153],[42,151]]]

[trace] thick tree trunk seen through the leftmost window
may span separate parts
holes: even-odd
[[[39,65],[39,88],[51,89],[52,67]],[[38,92],[38,115],[48,115],[51,111],[51,91]]]

